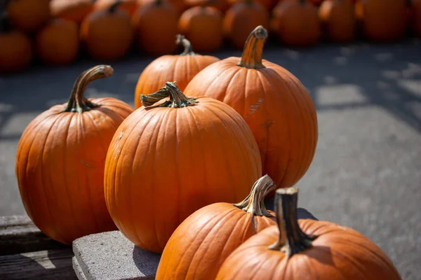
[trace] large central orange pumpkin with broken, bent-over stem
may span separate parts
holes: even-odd
[[[197,209],[246,197],[262,166],[253,134],[227,104],[187,98],[170,82],[142,103],[109,146],[105,200],[123,235],[161,253]]]

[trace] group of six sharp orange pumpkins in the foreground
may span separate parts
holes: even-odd
[[[298,220],[316,110],[298,78],[262,59],[267,36],[255,27],[242,56],[222,60],[178,36],[185,52],[147,66],[135,110],[83,96],[111,66],[81,73],[68,102],[34,118],[18,144],[34,224],[64,244],[119,229],[161,253],[156,279],[401,279],[361,233]],[[274,212],[264,204],[273,195]]]

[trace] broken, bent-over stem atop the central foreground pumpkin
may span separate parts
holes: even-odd
[[[170,100],[163,102],[162,104],[152,106],[160,100],[170,97]],[[140,100],[145,107],[155,108],[155,107],[168,107],[168,108],[181,108],[196,105],[194,98],[186,97],[184,93],[175,85],[175,82],[166,82],[165,87],[161,87],[157,92],[151,94],[140,94]]]

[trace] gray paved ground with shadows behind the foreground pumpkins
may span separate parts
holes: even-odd
[[[239,51],[218,52],[220,58]],[[307,87],[319,118],[319,144],[299,182],[300,206],[375,241],[403,279],[421,274],[421,41],[265,48]],[[114,75],[93,82],[88,97],[114,96],[133,105],[142,69],[152,58],[113,63]],[[15,151],[25,126],[66,102],[74,79],[96,62],[36,66],[0,77],[0,215],[23,214]]]

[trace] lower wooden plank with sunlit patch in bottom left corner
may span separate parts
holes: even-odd
[[[72,249],[44,250],[0,256],[1,280],[76,280]]]

